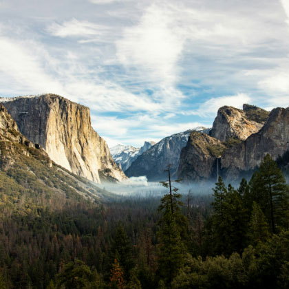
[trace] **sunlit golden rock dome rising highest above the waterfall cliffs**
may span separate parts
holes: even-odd
[[[261,115],[264,109],[254,108],[252,105],[245,105],[244,111],[235,107],[221,107],[217,111],[210,136],[222,142],[232,138],[246,140],[252,133],[257,133],[264,125],[264,122],[261,121],[264,119],[257,118],[257,115]]]

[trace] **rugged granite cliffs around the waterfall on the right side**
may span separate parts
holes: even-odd
[[[211,136],[191,133],[182,149],[178,177],[187,182],[220,174],[230,182],[250,178],[267,153],[277,160],[289,151],[289,107],[270,112],[252,105],[221,107]],[[286,166],[285,166],[286,167]]]

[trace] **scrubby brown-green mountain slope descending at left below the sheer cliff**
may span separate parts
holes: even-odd
[[[0,206],[29,212],[39,206],[60,208],[67,202],[102,202],[112,194],[50,160],[25,138],[0,104]],[[28,210],[29,209],[29,210]]]

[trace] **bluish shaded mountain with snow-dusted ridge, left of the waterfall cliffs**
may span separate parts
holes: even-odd
[[[204,128],[198,128],[204,129]],[[180,163],[180,152],[186,146],[189,136],[195,129],[189,129],[182,133],[175,133],[172,136],[163,138],[157,144],[138,156],[125,171],[129,177],[146,175],[149,181],[167,180],[167,166],[171,165],[171,176],[176,178]]]

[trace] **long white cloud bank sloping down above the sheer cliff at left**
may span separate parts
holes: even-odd
[[[33,50],[30,47],[34,47]],[[127,92],[110,81],[87,80],[88,71],[67,52],[67,63],[58,61],[34,41],[0,38],[0,84],[2,93],[53,92],[88,105],[95,111],[159,111],[162,106],[147,96]],[[53,75],[53,76],[52,76]],[[83,76],[84,75],[84,76]],[[7,85],[13,83],[13,87]]]

